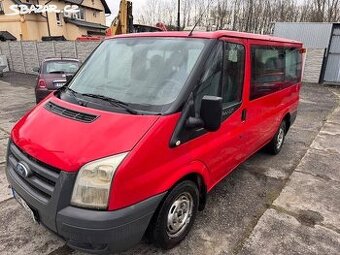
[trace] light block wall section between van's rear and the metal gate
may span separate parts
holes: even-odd
[[[325,49],[307,49],[303,81],[319,83]]]

